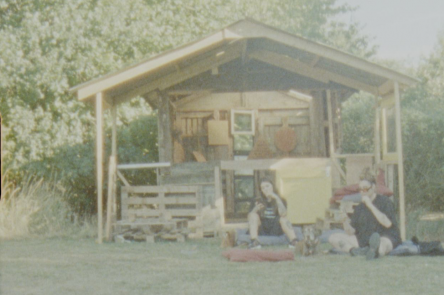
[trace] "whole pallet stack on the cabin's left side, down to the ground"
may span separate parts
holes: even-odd
[[[188,236],[203,237],[197,186],[125,186],[121,204],[122,220],[114,230],[120,240],[182,241]]]

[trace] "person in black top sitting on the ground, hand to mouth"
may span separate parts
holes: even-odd
[[[376,194],[375,177],[369,170],[361,175],[359,191],[362,201],[344,223],[346,233],[332,234],[329,242],[335,250],[366,255],[371,260],[386,255],[402,241],[395,207],[388,197]]]

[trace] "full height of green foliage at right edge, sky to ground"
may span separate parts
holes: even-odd
[[[403,102],[406,192],[411,208],[444,210],[444,36]]]

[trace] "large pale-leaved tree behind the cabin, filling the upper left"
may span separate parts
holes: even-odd
[[[78,148],[67,157],[88,159],[89,152],[80,147],[91,144],[94,117],[92,106],[77,101],[68,92],[70,87],[244,17],[371,56],[374,49],[368,48],[369,39],[358,25],[332,21],[350,9],[336,5],[336,0],[0,1],[3,167],[17,180],[30,165],[38,167],[31,170],[39,174],[55,170],[71,175],[78,169],[74,163],[54,159],[69,147]],[[123,128],[150,110],[136,99],[119,113]],[[135,159],[143,150],[133,153],[138,154]]]

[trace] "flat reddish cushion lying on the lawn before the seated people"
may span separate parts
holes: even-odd
[[[231,262],[248,261],[287,261],[294,260],[294,253],[291,250],[269,251],[269,250],[248,250],[230,249],[222,255]]]

